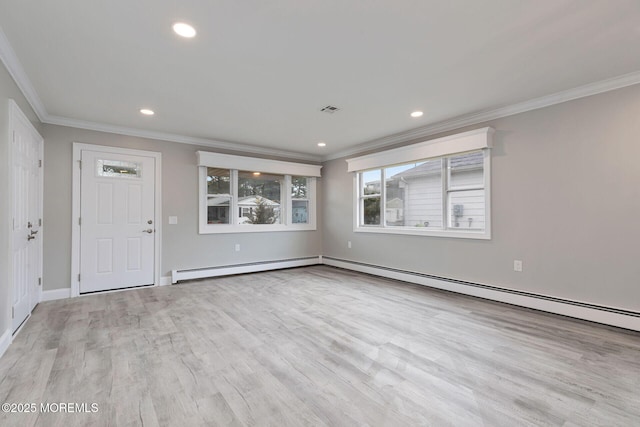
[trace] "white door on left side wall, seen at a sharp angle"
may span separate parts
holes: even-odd
[[[13,332],[40,300],[42,137],[11,104]],[[40,233],[40,234],[38,234]]]

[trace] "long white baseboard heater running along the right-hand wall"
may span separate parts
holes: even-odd
[[[322,263],[347,270],[387,277],[389,279],[402,280],[404,282],[416,283],[418,285],[444,289],[460,294],[472,295],[493,301],[505,302],[521,307],[533,308],[535,310],[640,331],[640,313],[616,309],[613,307],[563,300],[560,298],[526,292],[517,292],[488,285],[436,278],[426,274],[379,267],[355,261],[340,260],[326,256],[323,257]]]

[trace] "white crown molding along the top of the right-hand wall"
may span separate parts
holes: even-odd
[[[408,131],[398,132],[393,135],[385,136],[383,138],[373,139],[371,141],[358,144],[349,149],[328,154],[324,156],[322,160],[335,160],[342,157],[357,155],[365,151],[386,148],[391,145],[401,144],[403,142],[413,141],[420,138],[427,138],[442,132],[449,132],[452,130],[460,129],[465,126],[477,125],[489,120],[496,120],[502,117],[513,116],[515,114],[525,113],[527,111],[537,110],[540,108],[561,104],[563,102],[572,101],[574,99],[584,98],[591,95],[597,95],[599,93],[608,92],[639,83],[640,71],[624,74],[622,76],[601,80],[595,83],[589,83],[573,89],[564,90],[551,95],[545,95],[540,98],[534,98],[506,107],[471,113],[456,117],[451,120],[445,120]]]

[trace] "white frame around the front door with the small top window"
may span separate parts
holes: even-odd
[[[160,286],[161,272],[161,242],[162,242],[162,153],[156,151],[133,150],[130,148],[111,147],[105,145],[73,143],[73,188],[72,188],[72,208],[71,208],[71,297],[80,295],[80,159],[82,150],[101,151],[104,153],[115,153],[132,156],[153,157],[156,161],[155,176],[155,224],[154,233],[154,271],[153,285]],[[106,291],[109,292],[109,291]]]

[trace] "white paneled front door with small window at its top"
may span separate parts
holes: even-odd
[[[82,150],[80,293],[154,284],[155,159]]]

